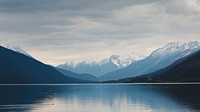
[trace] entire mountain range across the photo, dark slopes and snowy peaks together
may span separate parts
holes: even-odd
[[[0,84],[200,81],[197,41],[168,43],[145,58],[112,55],[101,61],[68,62],[58,67],[34,59],[19,47],[0,46],[0,54]]]

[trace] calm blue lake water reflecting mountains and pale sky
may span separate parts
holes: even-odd
[[[198,112],[200,85],[1,85],[0,112]]]

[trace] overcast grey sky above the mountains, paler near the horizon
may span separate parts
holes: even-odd
[[[52,65],[200,41],[200,0],[0,0],[0,44]]]

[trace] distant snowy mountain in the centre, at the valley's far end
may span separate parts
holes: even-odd
[[[128,55],[112,55],[100,61],[66,62],[57,67],[76,73],[87,73],[99,77],[106,73],[125,68],[143,57],[143,55],[136,56],[133,53]]]

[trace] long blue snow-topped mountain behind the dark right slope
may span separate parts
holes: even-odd
[[[105,74],[100,80],[117,80],[127,77],[152,73],[167,67],[178,59],[200,50],[200,43],[191,41],[188,43],[173,42],[152,52],[143,60],[136,61],[126,68]]]

